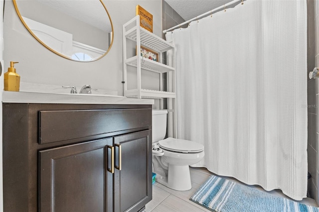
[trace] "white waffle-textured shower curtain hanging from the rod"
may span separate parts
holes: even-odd
[[[194,166],[305,198],[306,0],[247,0],[166,36],[177,138],[205,147]]]

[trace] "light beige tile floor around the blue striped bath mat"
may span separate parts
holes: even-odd
[[[211,174],[212,173],[206,168],[190,168],[192,189],[183,192],[169,189],[156,182],[153,185],[153,200],[146,205],[144,212],[211,212],[189,200],[190,196]],[[240,183],[234,178],[227,179]],[[264,191],[259,186],[254,187]],[[280,190],[274,190],[268,193],[288,198]],[[310,198],[306,198],[300,202],[317,207],[316,202]]]

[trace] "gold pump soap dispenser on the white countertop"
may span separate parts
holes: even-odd
[[[10,68],[4,73],[4,91],[19,91],[20,75],[15,72],[14,63],[10,61]]]

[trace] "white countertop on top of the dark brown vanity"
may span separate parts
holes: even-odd
[[[3,91],[2,102],[39,104],[154,105],[154,100],[151,99],[126,98],[115,95],[58,94],[12,91]]]

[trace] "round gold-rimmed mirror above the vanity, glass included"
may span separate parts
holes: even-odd
[[[113,43],[113,25],[102,0],[13,0],[25,28],[61,57],[95,61]]]

